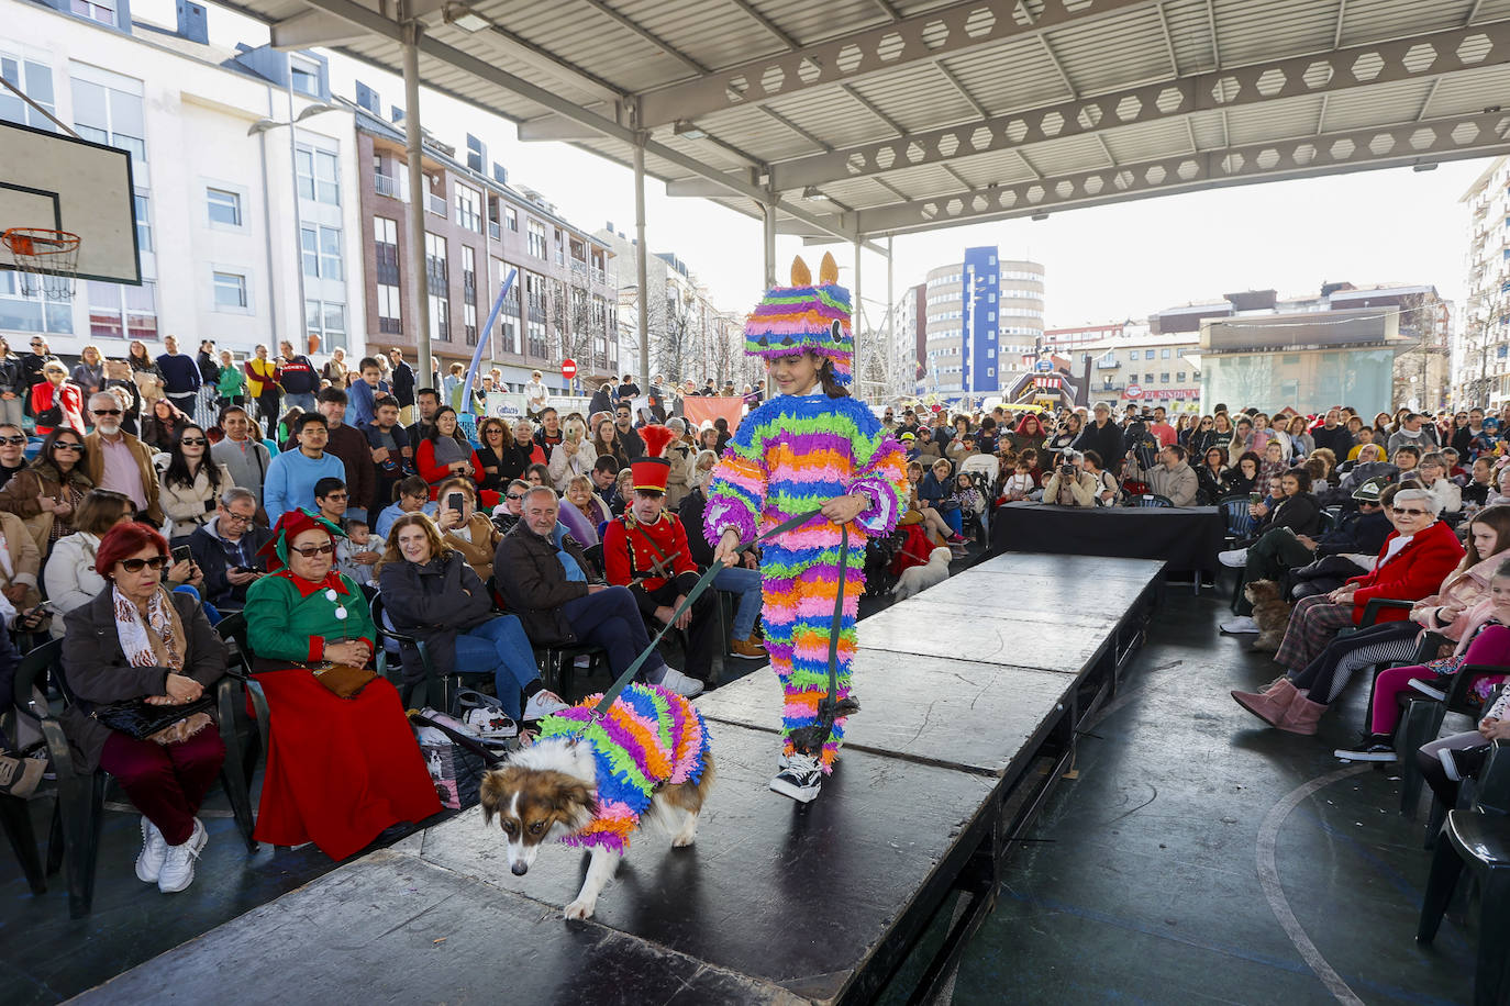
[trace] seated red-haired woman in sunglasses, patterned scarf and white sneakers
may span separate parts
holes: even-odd
[[[165,894],[193,882],[208,840],[196,814],[220,774],[225,744],[208,712],[145,739],[110,730],[91,713],[130,698],[181,706],[225,674],[225,644],[204,608],[163,588],[169,563],[168,541],[142,523],[122,522],[100,540],[95,572],[107,585],[65,618],[63,673],[80,703],[60,716],[74,769],[103,768],[142,811],[136,876]]]

